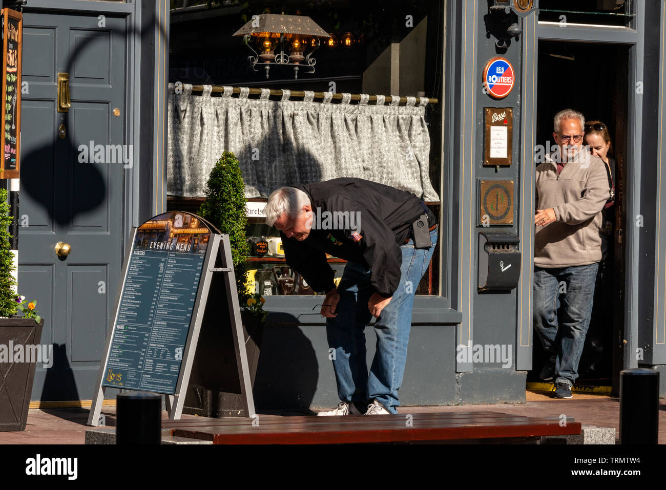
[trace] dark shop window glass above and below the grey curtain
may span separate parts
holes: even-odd
[[[205,1],[172,0],[170,26],[170,74],[172,83],[194,85],[231,85],[234,87],[261,87],[290,89],[292,91],[334,91],[336,93],[366,93],[370,95],[408,95],[436,98],[439,103],[426,107],[425,120],[430,133],[430,182],[440,201],[426,202],[438,218],[444,216],[446,228],[450,212],[444,196],[450,194],[442,188],[442,52],[443,25],[438,21],[444,13],[444,1],[423,3],[407,0],[399,11],[386,8],[380,0],[364,2],[324,3],[318,7],[300,5],[300,15],[311,17],[335,39],[351,36],[350,43],[322,46],[316,51],[316,73],[299,75],[293,79],[291,73],[271,70],[270,78],[255,73],[248,67],[247,49],[238,38],[230,36],[253,13],[261,13],[270,7],[273,11],[295,13],[276,2],[250,1],[241,4],[240,10],[230,3],[218,1],[206,10],[206,16],[190,19],[186,10],[195,10],[195,5]],[[425,4],[425,5],[424,5]],[[193,8],[189,8],[193,7]],[[396,54],[400,53],[397,57]],[[394,65],[397,63],[397,65]],[[387,73],[390,76],[387,76]],[[275,99],[277,100],[277,99]],[[337,101],[336,101],[337,102]],[[202,198],[178,198],[169,196],[168,209],[192,210],[196,212]],[[265,199],[250,199],[256,203]],[[442,207],[444,206],[444,207]],[[279,233],[265,224],[263,218],[248,216],[248,238],[268,241],[266,253],[259,252],[248,257],[249,281],[262,294],[314,294],[307,284],[284,261],[280,253]],[[430,267],[415,290],[418,295],[448,296],[447,280],[449,264],[446,235],[440,230],[438,244]],[[444,261],[442,260],[444,258]],[[345,261],[329,257],[328,262],[340,278]],[[287,269],[287,270],[285,270]],[[280,290],[277,278],[288,274],[294,279],[290,291]],[[281,281],[279,284],[288,284]]]

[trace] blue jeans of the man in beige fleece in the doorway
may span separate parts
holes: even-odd
[[[598,262],[566,268],[534,267],[534,330],[554,365],[555,383],[571,387],[578,377],[598,268]],[[560,305],[561,325],[557,321]]]

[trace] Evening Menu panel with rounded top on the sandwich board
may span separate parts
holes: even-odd
[[[174,394],[212,231],[186,212],[137,229],[103,386]]]

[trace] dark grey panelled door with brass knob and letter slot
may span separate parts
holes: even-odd
[[[122,260],[124,164],[111,145],[125,143],[126,24],[96,13],[23,19],[19,290],[37,300],[54,354],[51,369],[37,366],[32,399],[91,399]],[[69,112],[57,112],[58,73],[69,73]]]

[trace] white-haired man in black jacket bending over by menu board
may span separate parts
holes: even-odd
[[[397,413],[414,294],[437,242],[434,214],[410,192],[360,178],[282,187],[264,212],[287,264],[326,292],[321,314],[341,401],[318,415]],[[348,261],[337,288],[327,253]],[[373,316],[368,374],[364,329]]]

